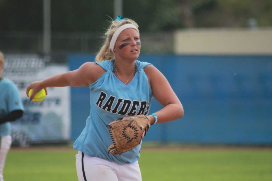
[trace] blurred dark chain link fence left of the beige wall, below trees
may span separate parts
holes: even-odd
[[[141,53],[173,53],[173,33],[141,33]],[[99,33],[52,33],[52,54],[96,53],[102,46]],[[43,53],[43,34],[37,32],[0,32],[4,53]]]

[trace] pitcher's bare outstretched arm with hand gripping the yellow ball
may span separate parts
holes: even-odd
[[[76,70],[59,73],[43,81],[32,82],[27,87],[26,94],[28,96],[28,91],[32,88],[33,92],[30,97],[32,99],[43,88],[47,95],[47,87],[88,87],[89,84],[95,82],[103,73],[105,71],[96,63],[86,62]]]

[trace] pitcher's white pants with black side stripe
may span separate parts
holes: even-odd
[[[141,181],[138,161],[133,164],[117,164],[81,151],[76,154],[76,172],[79,181]]]

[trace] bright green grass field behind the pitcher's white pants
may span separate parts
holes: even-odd
[[[72,147],[12,148],[5,181],[75,181]],[[143,181],[272,180],[272,149],[143,148],[139,160]]]

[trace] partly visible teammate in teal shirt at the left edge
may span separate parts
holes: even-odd
[[[11,121],[15,121],[24,113],[24,107],[18,88],[9,79],[3,78],[4,54],[0,52],[0,181],[7,153],[11,146]]]

